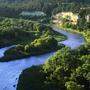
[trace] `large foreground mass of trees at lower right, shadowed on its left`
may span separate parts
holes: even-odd
[[[24,70],[17,90],[89,90],[90,44],[62,48],[42,66]]]

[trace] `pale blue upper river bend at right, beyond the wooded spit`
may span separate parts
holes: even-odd
[[[69,32],[67,30],[59,29],[57,27],[55,27],[53,29],[55,31],[57,31],[58,33],[62,33],[62,34],[66,35],[68,37],[67,40],[62,41],[60,43],[66,45],[68,47],[71,47],[71,49],[75,49],[75,48],[83,45],[84,42],[85,42],[85,39],[81,34],[72,33],[72,32]]]

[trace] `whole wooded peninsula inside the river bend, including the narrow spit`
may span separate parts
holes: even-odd
[[[57,50],[58,41],[66,39],[66,36],[58,34],[49,26],[30,20],[1,18],[0,39],[0,47],[17,45],[7,50],[0,59],[9,61]]]

